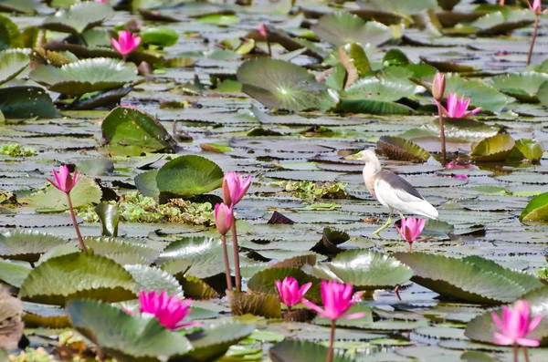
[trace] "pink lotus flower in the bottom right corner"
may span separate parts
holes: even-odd
[[[496,313],[491,313],[493,322],[501,333],[493,333],[494,343],[501,346],[539,346],[540,338],[527,338],[543,319],[543,315],[530,318],[531,310],[525,300],[518,300],[511,308],[502,306],[502,320]]]

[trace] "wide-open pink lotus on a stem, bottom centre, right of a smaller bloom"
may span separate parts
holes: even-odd
[[[313,304],[308,299],[302,298],[302,304],[317,312],[323,318],[331,319],[332,321],[339,318],[355,319],[366,315],[365,312],[353,313],[347,315],[348,310],[355,305],[364,295],[364,292],[357,292],[352,295],[353,285],[342,284],[334,281],[321,281],[321,301],[324,309]]]

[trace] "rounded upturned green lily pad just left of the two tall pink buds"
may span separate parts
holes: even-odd
[[[224,176],[214,161],[185,155],[164,164],[156,175],[156,182],[160,199],[188,199],[221,187]]]

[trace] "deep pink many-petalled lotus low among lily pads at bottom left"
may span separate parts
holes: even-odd
[[[168,298],[165,289],[160,295],[156,291],[146,293],[142,290],[139,293],[139,302],[141,303],[141,313],[154,315],[163,326],[171,330],[200,325],[197,322],[182,323],[184,317],[192,311],[189,307],[192,299],[185,299],[182,302],[182,299],[177,298],[175,295]]]

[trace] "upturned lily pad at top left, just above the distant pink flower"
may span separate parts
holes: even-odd
[[[58,10],[56,14],[44,20],[42,27],[60,33],[79,35],[95,26],[100,26],[112,16],[114,16],[114,10],[110,5],[86,1]]]

